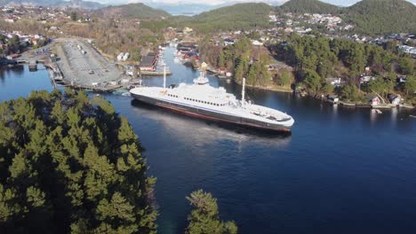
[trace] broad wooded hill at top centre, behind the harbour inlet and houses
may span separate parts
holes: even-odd
[[[234,4],[185,18],[182,23],[204,32],[268,27],[268,13],[273,10],[268,4]]]

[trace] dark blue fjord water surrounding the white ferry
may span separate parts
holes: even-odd
[[[198,74],[172,62],[167,84]],[[241,87],[210,77],[239,95]],[[162,85],[162,77],[145,78]],[[52,90],[43,70],[0,72],[0,99]],[[287,112],[292,135],[246,132],[191,119],[122,95],[106,95],[145,146],[157,177],[159,233],[183,233],[198,189],[241,233],[409,233],[416,230],[414,112],[348,109],[288,93],[247,90],[256,104]]]

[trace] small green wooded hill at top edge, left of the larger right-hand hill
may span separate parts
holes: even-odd
[[[277,9],[283,12],[324,14],[334,14],[340,11],[340,7],[318,0],[291,0]]]

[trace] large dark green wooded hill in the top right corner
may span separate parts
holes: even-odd
[[[359,33],[416,33],[416,6],[404,0],[363,0],[346,13]]]

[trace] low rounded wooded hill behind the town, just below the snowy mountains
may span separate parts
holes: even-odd
[[[137,19],[164,19],[171,14],[163,10],[152,8],[146,4],[124,4],[101,8],[95,11],[101,17],[137,18]]]

